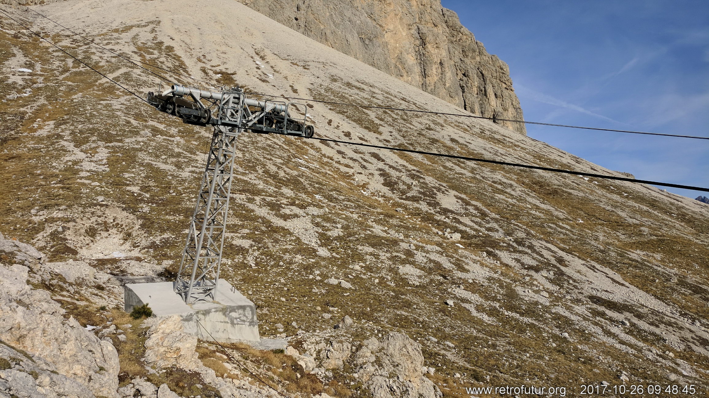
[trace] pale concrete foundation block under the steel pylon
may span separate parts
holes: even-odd
[[[172,290],[172,282],[125,285],[125,311],[131,312],[133,307],[144,304],[152,309],[154,317],[179,314],[185,331],[202,340],[222,343],[261,340],[256,306],[223,279],[219,280],[214,301],[192,305],[185,304]]]

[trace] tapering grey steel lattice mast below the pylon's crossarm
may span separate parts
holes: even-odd
[[[216,125],[174,290],[191,304],[214,300],[240,129]]]

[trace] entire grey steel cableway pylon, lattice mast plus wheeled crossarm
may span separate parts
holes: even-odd
[[[238,87],[208,91],[175,84],[162,93],[147,93],[145,101],[164,113],[182,118],[184,123],[214,126],[207,166],[174,290],[187,304],[215,300],[236,137],[243,130],[312,137],[315,129],[306,123],[305,105],[247,98]],[[202,101],[210,105],[207,107]],[[302,116],[291,113],[294,109],[302,109]]]

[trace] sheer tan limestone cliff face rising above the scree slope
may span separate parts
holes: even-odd
[[[523,118],[509,69],[440,0],[240,0],[476,115]],[[522,123],[500,122],[525,133]]]

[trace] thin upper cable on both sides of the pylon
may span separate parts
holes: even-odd
[[[18,3],[19,4],[19,3]],[[23,5],[24,6],[24,5]],[[47,18],[49,21],[52,21],[52,23],[56,23],[57,25],[60,25],[62,28],[69,30],[69,32],[74,33],[74,35],[79,36],[80,38],[83,38],[84,40],[88,40],[89,42],[94,43],[94,45],[97,45],[101,47],[102,49],[109,51],[113,53],[114,55],[117,55],[118,57],[121,57],[125,59],[128,62],[134,63],[139,62],[140,64],[145,64],[150,67],[154,67],[157,69],[160,69],[164,72],[169,72],[172,74],[176,74],[178,76],[186,77],[187,79],[192,79],[194,81],[199,81],[200,83],[203,84],[208,84],[209,86],[215,86],[209,81],[204,81],[200,79],[196,79],[193,76],[189,76],[186,74],[181,74],[179,72],[174,72],[173,70],[170,69],[165,69],[163,67],[158,67],[155,64],[150,64],[149,62],[144,62],[141,61],[140,59],[135,59],[135,58],[130,58],[130,57],[123,57],[123,55],[119,55],[116,52],[113,52],[112,50],[109,50],[108,48],[94,42],[93,40],[84,37],[83,35],[80,35],[79,33],[74,32],[74,30],[71,30],[67,28],[65,25],[62,25],[61,23],[58,23],[57,21],[54,21],[52,18],[49,18],[48,16],[45,16],[43,13],[40,13],[39,11],[35,11],[33,8],[29,8],[28,6],[24,6],[28,10],[37,13],[39,16],[42,16],[43,18]],[[136,64],[136,66],[141,67],[140,65]],[[155,74],[156,76],[159,76],[161,79],[164,79],[165,81],[169,81],[169,79],[165,78],[164,76],[161,76],[160,74],[156,74],[155,72],[150,71],[149,69],[146,69],[145,67],[141,67],[147,72],[150,72],[152,74]],[[466,115],[464,113],[447,113],[447,112],[436,112],[434,110],[422,110],[422,109],[411,109],[411,108],[393,108],[393,107],[388,107],[388,106],[371,106],[371,105],[360,105],[356,103],[342,103],[342,102],[336,102],[336,101],[323,101],[323,100],[317,100],[314,98],[299,98],[299,97],[286,97],[286,96],[274,96],[272,94],[264,94],[264,93],[250,93],[250,94],[256,94],[260,96],[272,96],[272,97],[281,97],[281,98],[286,98],[286,99],[296,99],[300,101],[313,101],[313,102],[318,102],[318,103],[330,103],[333,105],[342,105],[342,106],[357,106],[359,108],[374,108],[374,109],[385,109],[385,110],[398,110],[398,111],[403,111],[403,112],[417,112],[417,113],[430,113],[434,115],[447,115],[447,116],[458,116],[461,118],[474,118],[474,119],[484,119],[484,120],[493,120],[493,122],[510,122],[510,123],[523,123],[527,125],[543,125],[543,126],[553,126],[553,127],[567,127],[567,128],[578,128],[578,129],[584,129],[584,130],[597,130],[597,131],[608,131],[608,132],[625,132],[629,134],[642,134],[642,135],[659,135],[663,137],[679,137],[679,138],[693,138],[697,140],[709,140],[709,137],[701,137],[701,136],[694,136],[694,135],[677,135],[677,134],[665,134],[665,133],[660,133],[660,132],[644,132],[644,131],[633,131],[633,130],[615,130],[615,129],[608,129],[608,128],[601,128],[601,127],[586,127],[586,126],[576,126],[576,125],[559,125],[555,123],[542,123],[542,122],[529,122],[527,120],[515,120],[515,119],[502,119],[502,118],[496,118],[496,117],[488,117],[488,116],[478,116],[478,115]]]

